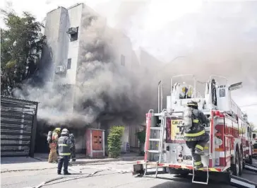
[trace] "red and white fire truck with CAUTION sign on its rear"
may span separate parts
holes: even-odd
[[[183,81],[185,76],[190,77],[191,85],[174,82],[178,78]],[[216,79],[221,79],[223,84],[216,83]],[[239,177],[243,168],[257,172],[257,168],[251,165],[251,127],[247,115],[231,97],[232,90],[241,88],[242,83],[229,86],[227,78],[213,75],[205,83],[205,92],[201,95],[196,90],[197,82],[193,75],[173,76],[166,109],[162,109],[163,84],[162,81],[158,83],[158,112],[149,110],[146,114],[145,157],[133,165],[133,174],[152,172],[155,177],[160,173],[193,174],[192,182],[198,184],[208,184],[209,175],[226,175],[234,186],[257,187],[257,184]],[[181,98],[185,88],[191,91],[191,95]],[[198,110],[210,119],[210,124],[205,125],[210,141],[204,148],[205,155],[201,156],[203,168],[197,170],[182,134],[184,110],[191,100],[198,102]],[[196,181],[198,175],[205,176],[205,180]]]

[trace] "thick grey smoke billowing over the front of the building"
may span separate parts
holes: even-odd
[[[49,124],[96,126],[102,119],[143,122],[145,112],[157,104],[156,85],[149,84],[154,79],[149,72],[144,74],[133,53],[127,60],[131,67],[120,65],[116,51],[124,44],[119,31],[107,28],[105,20],[88,9],[81,19],[76,83],[65,85],[67,78],[55,75],[54,82],[42,87],[25,83],[15,95],[40,102],[38,117]]]

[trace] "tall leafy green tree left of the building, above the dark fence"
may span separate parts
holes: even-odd
[[[44,46],[42,24],[28,12],[17,16],[1,9],[6,29],[1,29],[1,95],[11,95],[13,88],[37,70]]]

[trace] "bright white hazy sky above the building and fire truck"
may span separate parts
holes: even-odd
[[[0,7],[4,8],[6,2],[0,1]],[[255,89],[251,92],[244,90],[243,95],[238,92],[233,95],[238,105],[251,105],[257,102],[257,77],[253,76],[257,75],[257,72],[251,73],[254,66],[250,65],[257,64],[255,60],[257,57],[253,52],[257,47],[257,11],[255,11],[257,1],[12,0],[9,2],[17,13],[30,11],[40,21],[44,20],[47,12],[58,6],[68,8],[76,3],[85,3],[107,17],[110,26],[124,30],[124,33],[131,38],[134,49],[143,47],[164,62],[170,62],[181,55],[191,60],[189,55],[192,54],[198,54],[198,57],[201,57],[199,61],[210,61],[210,56],[216,61],[240,61],[243,68],[244,64],[250,62],[244,70],[241,69],[240,76],[247,77],[246,81]],[[208,5],[207,2],[215,4]],[[0,26],[4,26],[2,21]],[[251,122],[257,124],[257,106],[243,107],[242,110],[249,114]]]

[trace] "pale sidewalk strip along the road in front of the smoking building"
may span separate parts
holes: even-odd
[[[48,163],[47,153],[35,153],[35,158],[26,157],[9,157],[1,158],[1,173],[11,172],[11,171],[24,171],[24,170],[45,170],[56,168],[56,163]],[[90,159],[86,158],[85,155],[78,154],[76,162],[72,162],[74,165],[85,165],[90,163],[108,163],[113,161],[134,161],[142,160],[142,156],[136,156],[135,153],[126,153],[121,155],[120,158],[100,158],[100,159]]]

